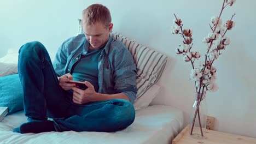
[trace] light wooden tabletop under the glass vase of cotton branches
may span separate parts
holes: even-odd
[[[194,130],[199,130],[199,128],[195,128]],[[177,139],[176,139],[177,138]],[[232,143],[232,144],[255,144],[256,139],[252,137],[234,135],[223,133],[219,131],[206,130],[205,139],[196,140],[189,135],[189,125],[185,127],[182,132],[176,137],[172,143],[173,144],[224,144],[224,143]]]

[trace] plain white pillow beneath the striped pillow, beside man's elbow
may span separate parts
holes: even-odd
[[[152,102],[152,100],[156,97],[156,95],[158,95],[160,90],[161,90],[161,87],[156,84],[150,87],[148,91],[143,94],[144,95],[143,97],[139,97],[133,103],[135,110],[146,108]]]

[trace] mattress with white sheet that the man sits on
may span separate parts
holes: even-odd
[[[13,133],[25,123],[23,111],[6,116],[0,122],[0,143],[171,143],[183,129],[183,113],[171,106],[153,105],[136,111],[135,122],[124,130],[104,132]]]

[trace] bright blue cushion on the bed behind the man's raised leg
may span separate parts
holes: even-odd
[[[0,77],[0,106],[8,107],[8,115],[23,109],[19,74]]]

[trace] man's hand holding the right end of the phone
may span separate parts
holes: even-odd
[[[73,102],[76,104],[86,104],[92,101],[96,100],[96,92],[94,89],[94,86],[91,85],[89,81],[84,82],[86,86],[88,86],[87,89],[79,89],[77,87],[72,87],[74,93],[73,93]]]

